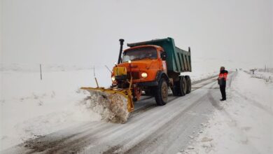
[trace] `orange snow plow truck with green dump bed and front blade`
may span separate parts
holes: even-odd
[[[188,51],[182,50],[175,46],[173,38],[163,38],[127,43],[129,48],[123,50],[124,40],[119,41],[120,52],[111,72],[111,87],[98,84],[97,87],[81,87],[91,95],[102,96],[92,101],[113,113],[109,120],[125,123],[134,111],[134,102],[139,101],[142,94],[155,97],[156,104],[164,106],[169,90],[177,97],[190,93],[190,76],[181,76],[182,72],[192,71],[190,47]]]

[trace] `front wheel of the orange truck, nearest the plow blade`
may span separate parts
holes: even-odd
[[[168,84],[164,78],[161,78],[155,91],[155,102],[163,106],[168,101]]]

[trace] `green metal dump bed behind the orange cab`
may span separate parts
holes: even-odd
[[[156,39],[152,41],[144,41],[139,43],[127,43],[129,47],[138,45],[158,45],[161,46],[167,52],[167,69],[168,71],[174,71],[181,73],[185,71],[192,71],[192,65],[190,60],[190,51],[177,48],[174,44],[173,38]]]

